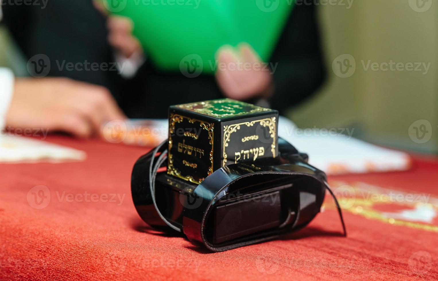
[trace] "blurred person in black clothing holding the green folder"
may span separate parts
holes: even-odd
[[[104,86],[130,118],[166,118],[169,105],[225,96],[250,102],[269,99],[272,107],[283,111],[310,96],[324,78],[314,5],[297,7],[288,17],[271,59],[278,62],[275,74],[222,71],[216,77],[201,74],[194,78],[180,72],[160,71],[150,60],[142,59],[141,46],[131,35],[132,23],[126,18],[109,16],[99,2],[49,1],[44,9],[36,5],[4,5],[3,10],[4,25],[25,61],[44,54],[51,62],[47,76]],[[259,60],[249,45],[240,46],[237,52],[223,48],[217,59],[225,63]],[[123,64],[123,68],[127,66],[123,70],[129,74],[123,75],[116,67],[69,70],[62,62],[73,65],[114,62],[118,66]]]

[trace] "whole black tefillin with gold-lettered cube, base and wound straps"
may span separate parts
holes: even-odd
[[[131,179],[148,225],[212,251],[303,228],[326,189],[325,173],[279,139],[276,110],[228,98],[171,106],[168,141],[138,159]]]

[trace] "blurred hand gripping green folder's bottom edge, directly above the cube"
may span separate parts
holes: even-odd
[[[247,100],[272,95],[272,74],[248,44],[241,43],[237,49],[223,46],[216,59],[216,81],[227,98]]]

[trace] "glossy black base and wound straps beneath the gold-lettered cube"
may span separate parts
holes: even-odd
[[[166,166],[163,143],[134,165],[134,205],[148,225],[216,252],[298,230],[320,211],[326,176],[286,141],[278,145],[279,157],[226,165],[197,185],[157,173]]]

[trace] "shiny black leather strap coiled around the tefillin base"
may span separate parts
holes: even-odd
[[[282,139],[279,139],[279,157],[276,159],[264,159],[253,164],[228,165],[213,172],[198,186],[194,186],[194,190],[188,196],[192,197],[193,200],[200,201],[197,202],[195,208],[184,206],[183,227],[181,228],[180,225],[173,223],[162,214],[155,200],[156,176],[159,168],[166,166],[166,147],[167,141],[139,158],[132,173],[131,189],[134,205],[141,218],[148,225],[163,231],[172,229],[177,232],[184,232],[187,238],[195,244],[201,244],[216,252],[225,251],[275,239],[284,233],[303,228],[319,212],[325,190],[329,190],[335,200],[344,235],[346,235],[339,203],[326,182],[325,173],[307,164],[307,155],[300,154],[291,144]],[[294,186],[294,189],[300,191],[300,193],[296,193],[299,194],[297,196],[301,196],[302,193],[314,194],[314,206],[299,207],[296,210],[296,218],[294,220],[287,218],[278,228],[249,235],[244,239],[233,240],[230,243],[213,245],[211,239],[208,239],[205,229],[206,220],[217,203],[225,198],[227,194],[244,189],[245,184],[240,183],[245,183],[248,180],[269,182],[279,178],[284,183],[300,183]]]

